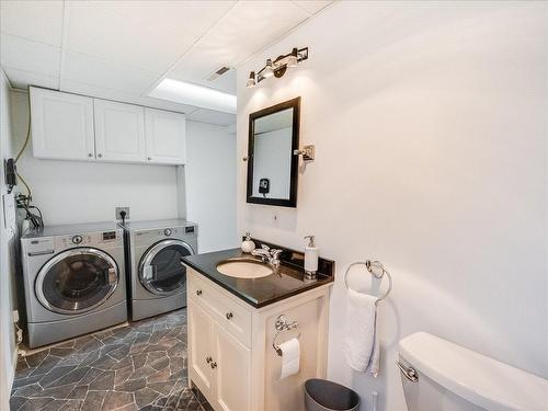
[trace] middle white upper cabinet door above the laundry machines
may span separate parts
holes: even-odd
[[[145,162],[145,109],[98,99],[93,107],[98,160]]]

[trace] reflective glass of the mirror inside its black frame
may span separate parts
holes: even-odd
[[[293,110],[255,119],[253,196],[289,199]]]

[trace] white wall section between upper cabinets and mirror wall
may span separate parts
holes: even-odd
[[[239,246],[236,230],[236,134],[186,123],[186,218],[198,225],[201,253]]]

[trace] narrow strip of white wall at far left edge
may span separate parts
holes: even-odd
[[[12,322],[12,278],[14,267],[14,213],[5,213],[2,204],[13,207],[13,194],[8,195],[4,175],[4,160],[12,157],[10,140],[10,88],[0,69],[0,410],[8,410],[11,384],[13,381],[16,345]],[[5,207],[7,208],[7,207]],[[11,217],[10,217],[11,216]],[[5,225],[4,225],[5,222]]]

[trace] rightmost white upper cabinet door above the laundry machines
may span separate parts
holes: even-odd
[[[186,121],[184,114],[145,109],[147,161],[184,164]]]

